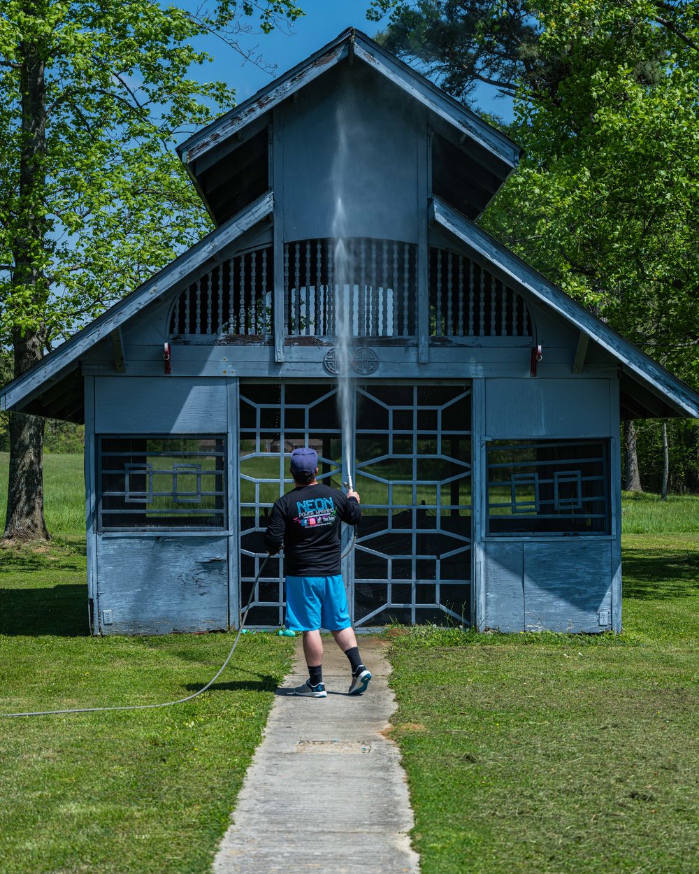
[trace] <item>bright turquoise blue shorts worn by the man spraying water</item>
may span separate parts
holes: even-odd
[[[287,577],[287,628],[341,631],[351,624],[341,573],[334,577]]]

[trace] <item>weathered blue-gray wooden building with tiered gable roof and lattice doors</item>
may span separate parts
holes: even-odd
[[[2,395],[85,422],[93,632],[238,624],[291,448],[347,478],[338,372],[356,627],[618,631],[619,422],[699,396],[474,224],[516,144],[350,30],[180,155],[216,229]]]

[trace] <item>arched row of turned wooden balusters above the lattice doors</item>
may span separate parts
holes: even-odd
[[[418,333],[418,247],[391,239],[295,240],[284,244],[284,333],[335,337]],[[273,334],[273,248],[240,253],[177,298],[175,342],[266,341]],[[465,255],[430,247],[429,333],[438,338],[530,336],[523,298]]]

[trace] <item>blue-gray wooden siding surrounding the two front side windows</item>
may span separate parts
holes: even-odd
[[[322,371],[316,367],[316,378]],[[228,436],[229,531],[100,534],[94,528],[88,470],[88,565],[102,634],[205,630],[235,625],[239,614],[237,415],[235,378],[87,378],[98,434]],[[617,405],[617,406],[615,406]],[[510,414],[511,413],[511,414]],[[474,380],[474,617],[478,628],[619,630],[619,500],[612,535],[488,538],[485,447],[489,439],[608,438],[619,454],[618,384],[610,379]],[[94,441],[87,435],[88,466]],[[94,468],[92,468],[93,470]],[[619,465],[612,463],[618,475]],[[614,481],[616,482],[616,480]],[[612,496],[618,489],[612,488]],[[346,568],[350,571],[350,565]],[[105,614],[104,611],[111,611]],[[105,616],[109,617],[108,623]],[[601,617],[601,619],[600,619]]]

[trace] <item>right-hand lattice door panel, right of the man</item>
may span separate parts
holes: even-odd
[[[357,389],[355,624],[470,621],[471,392]]]

